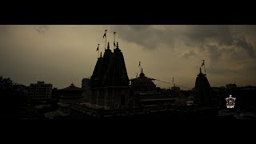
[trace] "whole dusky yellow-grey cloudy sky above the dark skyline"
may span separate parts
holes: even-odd
[[[205,59],[211,86],[256,85],[256,26],[0,26],[0,75],[29,86],[45,81],[62,89],[81,87],[102,53],[106,38],[124,54],[129,78],[138,62],[150,78],[194,87]],[[172,84],[155,82],[157,86]]]

